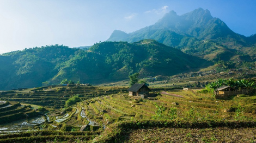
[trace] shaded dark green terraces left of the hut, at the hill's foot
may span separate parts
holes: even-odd
[[[81,99],[85,100],[119,92],[126,92],[126,88],[50,86],[2,92],[0,100],[17,101],[49,108],[64,108],[65,101],[73,95],[79,95]]]

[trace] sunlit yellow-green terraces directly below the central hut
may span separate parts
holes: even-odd
[[[225,111],[237,107],[239,103],[239,100],[226,102],[225,100],[216,100],[211,95],[195,95],[192,92],[183,92],[181,90],[170,90],[167,93],[143,100],[127,96],[127,94],[113,94],[89,99],[83,101],[82,104],[86,109],[84,112],[86,116],[102,122],[102,124],[109,124],[109,122],[120,120],[151,119],[155,115],[156,105],[163,106],[167,111],[170,108],[176,108],[178,117],[184,119],[191,118],[188,116],[193,116],[192,118],[195,120],[206,118],[233,120],[235,111]],[[242,114],[248,118],[255,117],[252,111],[242,112]]]

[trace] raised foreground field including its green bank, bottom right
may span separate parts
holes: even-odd
[[[109,126],[100,137],[94,139],[94,142],[226,142],[230,140],[249,142],[256,140],[254,135],[256,122],[213,120],[210,122],[211,124],[179,120],[119,122]]]

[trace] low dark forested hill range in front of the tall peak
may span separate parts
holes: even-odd
[[[155,40],[101,42],[89,50],[35,47],[0,55],[0,90],[56,85],[63,79],[103,83],[128,79],[135,72],[141,77],[174,75],[209,64]]]

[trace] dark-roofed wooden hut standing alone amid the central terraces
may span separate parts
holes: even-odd
[[[149,92],[151,91],[145,83],[139,84],[136,83],[132,87],[128,89],[129,95],[131,96],[147,96],[149,95]]]

